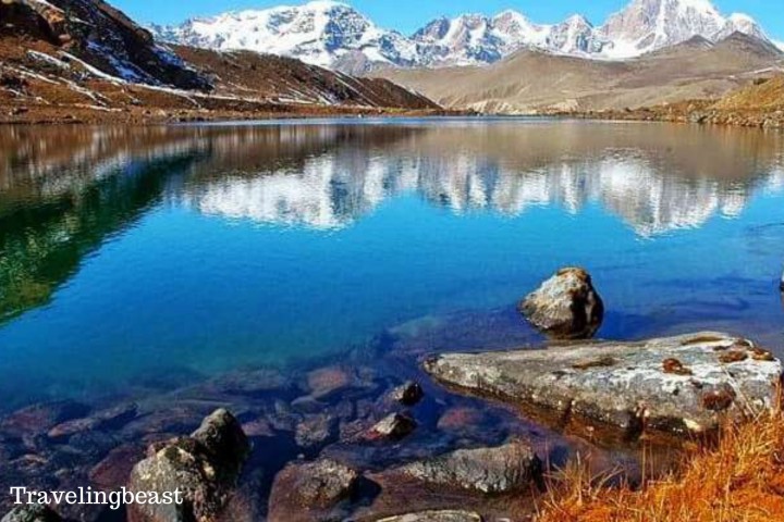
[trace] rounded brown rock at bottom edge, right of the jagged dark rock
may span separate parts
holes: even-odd
[[[274,480],[270,496],[270,520],[286,520],[287,514],[306,510],[328,510],[350,499],[359,473],[333,460],[293,463]]]

